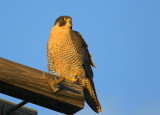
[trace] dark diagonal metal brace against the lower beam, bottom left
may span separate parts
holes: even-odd
[[[8,104],[6,104],[3,108],[3,115],[11,115],[11,113],[13,113],[14,111],[16,111],[17,109],[19,109],[20,107],[22,107],[23,105],[25,105],[26,103],[28,103],[28,101],[22,101],[21,103],[19,103],[16,106],[10,106]]]

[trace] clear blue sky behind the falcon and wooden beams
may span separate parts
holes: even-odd
[[[69,15],[97,68],[99,115],[160,114],[159,0],[0,0],[0,57],[47,71],[55,19]],[[0,94],[15,103],[21,100]],[[34,105],[39,115],[61,113]],[[87,104],[77,115],[96,115]]]

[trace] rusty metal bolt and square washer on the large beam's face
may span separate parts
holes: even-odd
[[[60,90],[60,83],[64,81],[64,77],[60,77],[60,79],[57,80],[56,77],[50,77],[50,79],[47,81],[48,85],[52,89],[52,91],[55,93],[58,90]]]

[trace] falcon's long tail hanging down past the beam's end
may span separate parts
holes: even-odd
[[[87,104],[97,113],[101,112],[101,105],[97,99],[94,83],[88,78],[84,78],[83,82],[84,97]]]

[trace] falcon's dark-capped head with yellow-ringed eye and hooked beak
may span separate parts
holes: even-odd
[[[55,24],[59,27],[67,27],[67,28],[72,28],[72,18],[69,16],[60,16],[56,19]]]

